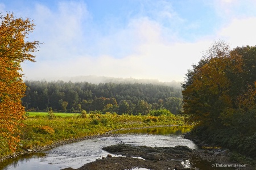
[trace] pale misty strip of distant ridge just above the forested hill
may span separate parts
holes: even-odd
[[[100,84],[100,83],[141,83],[141,84],[159,84],[163,86],[172,86],[176,88],[181,88],[182,82],[176,82],[172,80],[171,82],[160,82],[157,79],[135,79],[135,78],[114,78],[108,76],[96,76],[96,75],[81,75],[81,76],[64,76],[60,78],[48,78],[42,79],[42,81],[57,81],[62,80],[64,82],[89,82],[93,84]]]

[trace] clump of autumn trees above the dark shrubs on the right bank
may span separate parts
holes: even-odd
[[[242,118],[256,109],[255,81],[256,46],[232,50],[226,42],[216,41],[187,73],[183,113],[188,122],[199,125],[232,126],[234,114]],[[252,118],[256,121],[256,115]]]

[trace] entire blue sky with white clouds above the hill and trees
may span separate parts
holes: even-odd
[[[24,79],[64,76],[183,81],[214,41],[256,45],[255,0],[0,0],[38,40]]]

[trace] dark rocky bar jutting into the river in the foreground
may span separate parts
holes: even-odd
[[[85,164],[77,170],[132,169],[133,167],[147,169],[180,169],[183,167],[181,162],[192,156],[192,150],[185,146],[146,147],[118,144],[102,149],[119,156],[113,157],[112,155],[108,155],[106,158]],[[72,168],[65,168],[65,170],[71,169]]]

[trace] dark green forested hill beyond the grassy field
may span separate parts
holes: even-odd
[[[27,110],[46,110],[52,107],[55,111],[102,111],[105,105],[116,105],[125,101],[133,108],[142,101],[150,109],[167,108],[177,112],[181,107],[181,87],[174,88],[159,84],[142,83],[72,83],[57,81],[26,81],[26,96],[23,105]],[[112,103],[110,102],[112,99]],[[114,101],[113,101],[114,100]],[[108,102],[107,102],[108,101]],[[102,103],[103,102],[103,103]],[[116,103],[116,104],[115,104]],[[174,108],[175,105],[175,109]]]

